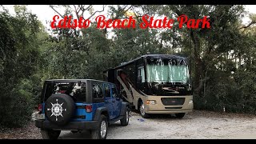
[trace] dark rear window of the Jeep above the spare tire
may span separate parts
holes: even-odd
[[[52,94],[68,94],[75,102],[86,101],[86,83],[82,82],[48,82],[46,83],[46,91],[44,101],[46,102]]]

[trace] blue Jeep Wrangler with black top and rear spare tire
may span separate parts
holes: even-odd
[[[113,83],[93,79],[47,80],[38,105],[35,126],[42,138],[56,139],[61,130],[90,130],[91,138],[105,139],[108,126],[129,123],[127,102]]]

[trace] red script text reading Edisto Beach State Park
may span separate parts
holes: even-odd
[[[189,28],[189,29],[210,29],[210,19],[204,16],[203,18],[191,19],[188,18],[185,14],[180,15],[177,19],[168,19],[164,17],[162,19],[155,19],[154,17],[150,17],[145,14],[142,16],[141,22],[136,25],[138,21],[130,16],[130,18],[122,18],[122,19],[106,19],[104,15],[98,15],[95,18],[95,22],[97,23],[98,29],[106,29],[106,28],[114,28],[114,29],[129,29],[129,28],[139,28],[146,29],[171,29],[174,24],[178,26],[178,28]],[[84,19],[80,17],[79,19],[73,19],[72,16],[65,16],[64,18],[60,18],[58,15],[54,15],[53,21],[50,23],[50,26],[55,28],[88,28],[90,26],[90,20]]]

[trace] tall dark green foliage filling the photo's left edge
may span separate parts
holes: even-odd
[[[39,22],[26,7],[16,6],[15,10],[18,17],[0,12],[0,125],[8,127],[23,126],[30,120],[37,91],[25,79],[37,70]]]

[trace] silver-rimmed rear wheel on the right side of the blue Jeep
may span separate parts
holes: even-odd
[[[91,130],[92,139],[106,139],[108,123],[105,115],[101,115],[97,130]]]

